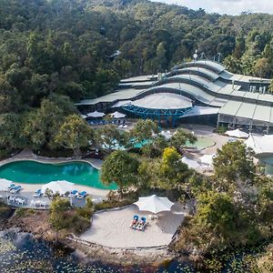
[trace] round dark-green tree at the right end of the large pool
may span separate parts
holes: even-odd
[[[126,151],[115,151],[106,157],[101,168],[101,180],[106,185],[115,182],[121,197],[125,187],[136,185],[139,163]]]

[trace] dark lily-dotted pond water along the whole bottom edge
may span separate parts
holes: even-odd
[[[260,253],[264,253],[266,246],[272,240],[260,244],[255,248],[241,248],[233,253],[216,254],[213,259],[217,263],[209,262],[207,270],[195,269],[189,263],[172,261],[166,267],[141,268],[135,265],[130,268],[122,268],[108,265],[103,262],[92,262],[80,258],[78,253],[72,249],[63,248],[35,239],[31,234],[18,232],[15,229],[0,231],[0,272],[8,273],[197,273],[197,272],[257,272],[252,271],[251,265]],[[219,265],[212,269],[211,265]]]

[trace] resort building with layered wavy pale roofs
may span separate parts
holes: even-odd
[[[157,76],[121,80],[116,92],[77,104],[82,112],[118,110],[167,126],[202,123],[268,134],[273,128],[270,79],[229,73],[210,60],[173,67]]]

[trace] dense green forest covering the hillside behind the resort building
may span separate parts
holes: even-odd
[[[196,49],[232,72],[270,78],[272,29],[273,15],[147,0],[0,0],[0,131],[9,132],[0,147],[43,147],[76,113],[71,102],[165,71]]]

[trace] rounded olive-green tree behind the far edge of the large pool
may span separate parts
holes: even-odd
[[[81,147],[88,147],[92,139],[92,129],[86,121],[77,115],[66,116],[65,122],[55,136],[56,144],[60,147],[73,149],[74,155],[80,155]]]

